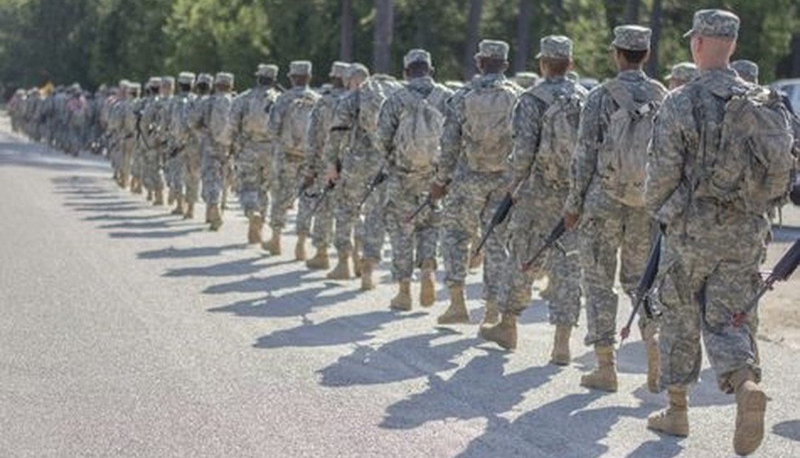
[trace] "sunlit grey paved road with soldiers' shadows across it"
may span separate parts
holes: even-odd
[[[578,387],[593,360],[582,332],[575,364],[546,364],[542,303],[522,316],[518,352],[500,352],[474,326],[389,311],[386,263],[378,290],[358,294],[247,247],[238,211],[210,233],[109,177],[104,163],[0,134],[2,457],[731,453],[734,405],[707,368],[692,436],[661,437],[644,428],[662,398],[642,388],[635,339],[620,392],[590,392]],[[800,362],[767,341],[762,356],[758,456],[800,456]]]

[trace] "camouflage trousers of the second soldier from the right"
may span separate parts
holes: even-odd
[[[617,335],[618,294],[614,291],[617,267],[622,291],[633,299],[650,255],[655,224],[643,207],[629,207],[599,193],[597,196],[598,201],[586,210],[579,235],[586,294],[584,342],[613,345]],[[639,327],[644,328],[646,323],[642,311]]]

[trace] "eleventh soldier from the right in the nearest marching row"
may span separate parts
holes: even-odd
[[[186,151],[183,155],[183,184],[186,187],[186,211],[183,213],[183,219],[194,218],[194,204],[197,203],[200,195],[202,151],[210,142],[205,123],[213,84],[213,76],[207,73],[198,74],[194,84],[196,96],[190,99],[189,106],[186,108],[189,143],[186,144]]]

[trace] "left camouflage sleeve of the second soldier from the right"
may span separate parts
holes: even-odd
[[[570,194],[564,211],[580,215],[586,191],[597,171],[598,149],[602,142],[602,89],[594,90],[586,99],[578,125],[578,145],[572,155]]]

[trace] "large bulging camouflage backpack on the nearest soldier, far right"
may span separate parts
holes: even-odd
[[[793,184],[789,113],[774,90],[755,86],[731,91],[717,147],[703,151],[698,196],[762,215],[781,205]]]

